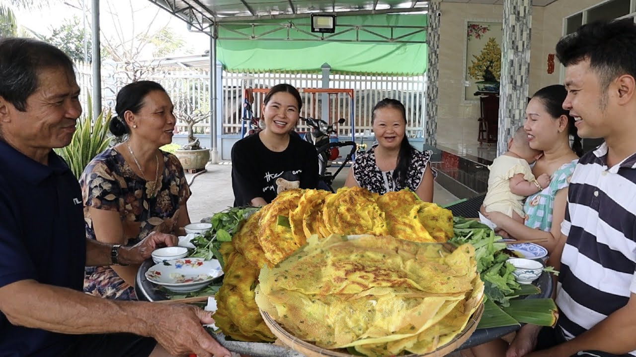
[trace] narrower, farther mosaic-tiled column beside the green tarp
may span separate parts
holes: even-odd
[[[438,57],[439,57],[439,0],[429,3],[428,29],[426,45],[428,62],[426,66],[426,125],[424,144],[437,145],[437,107],[438,107]],[[432,14],[432,15],[431,15]]]

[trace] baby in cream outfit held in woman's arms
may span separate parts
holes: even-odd
[[[488,192],[483,200],[486,212],[501,212],[523,223],[523,199],[543,191],[550,184],[550,176],[535,179],[530,164],[541,157],[541,151],[530,148],[528,135],[519,128],[508,140],[508,151],[488,166]]]

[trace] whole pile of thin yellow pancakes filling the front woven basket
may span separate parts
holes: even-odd
[[[370,277],[378,273],[373,269],[351,269],[356,266],[354,263],[363,267],[379,265],[375,255],[361,255],[367,251],[382,252],[389,262],[377,279],[375,275]],[[321,260],[325,256],[328,257],[326,264]],[[392,265],[399,260],[404,261],[404,269]],[[418,274],[418,271],[425,271],[425,266],[442,269]],[[395,271],[389,272],[389,269]],[[360,273],[362,271],[364,273]],[[407,274],[407,278],[392,280],[392,276],[402,273]],[[363,293],[344,293],[338,285],[343,277],[350,278],[351,285],[377,287]],[[355,346],[367,349],[365,346],[368,346],[374,353],[376,345],[381,345],[379,351],[382,353],[378,356],[401,352],[388,353],[386,349],[389,343],[398,340],[411,339],[407,345],[415,349],[419,348],[413,346],[420,336],[427,336],[431,331],[445,333],[439,338],[459,333],[465,325],[464,320],[467,321],[474,311],[467,307],[478,306],[483,296],[472,246],[460,246],[448,253],[436,243],[414,243],[392,237],[363,236],[354,241],[344,241],[339,236],[321,241],[312,237],[307,246],[278,266],[262,269],[259,282],[258,306],[296,337],[326,348]],[[425,292],[422,286],[441,293]],[[460,290],[458,286],[466,288]],[[321,293],[306,293],[309,290]],[[369,290],[377,293],[368,293]],[[465,319],[459,311],[466,314]],[[443,325],[436,327],[438,323]],[[431,346],[424,344],[422,349]]]

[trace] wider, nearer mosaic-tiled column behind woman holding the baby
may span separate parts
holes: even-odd
[[[531,29],[532,1],[504,0],[497,155],[508,150],[508,138],[523,125],[528,102]]]

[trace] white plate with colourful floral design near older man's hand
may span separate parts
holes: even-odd
[[[200,290],[221,275],[223,270],[218,260],[201,258],[165,260],[146,271],[148,281],[173,292]]]

